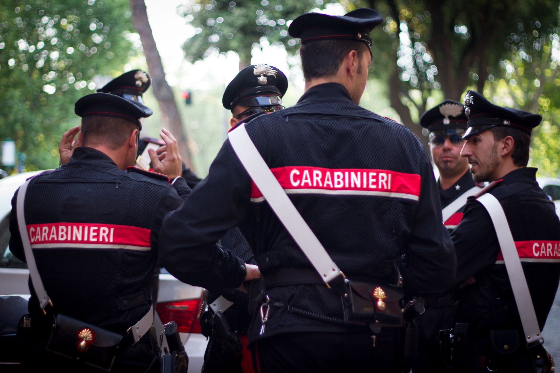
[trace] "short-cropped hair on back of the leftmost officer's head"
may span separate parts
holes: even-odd
[[[82,145],[104,145],[116,150],[123,146],[128,136],[138,126],[133,122],[108,115],[91,115],[82,118]]]

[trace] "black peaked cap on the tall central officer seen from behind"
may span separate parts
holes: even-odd
[[[370,8],[359,8],[344,16],[305,13],[293,20],[288,32],[300,38],[302,44],[326,39],[360,40],[371,53],[370,32],[382,21],[381,14]]]

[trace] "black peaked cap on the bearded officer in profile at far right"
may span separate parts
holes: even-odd
[[[465,114],[469,128],[463,139],[495,126],[507,126],[531,134],[531,130],[543,120],[538,114],[494,105],[476,91],[465,93]]]

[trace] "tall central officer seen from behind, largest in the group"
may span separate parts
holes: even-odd
[[[306,92],[297,105],[245,128],[347,278],[398,285],[396,265],[404,254],[404,286],[433,295],[454,278],[455,255],[430,160],[407,128],[358,106],[371,62],[369,34],[381,22],[367,8],[296,18],[288,31],[302,40]],[[344,323],[342,295],[325,286],[226,140],[206,180],[166,216],[164,264],[190,284],[206,286],[217,277],[239,285],[245,268],[218,271],[217,263],[235,258],[212,250],[236,225],[263,273],[256,305],[270,304],[268,317],[254,313],[249,328],[259,370],[400,370],[402,328],[374,334],[365,324]]]

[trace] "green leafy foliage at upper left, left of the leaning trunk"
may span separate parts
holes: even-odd
[[[74,102],[136,53],[129,17],[125,0],[0,3],[0,140],[16,141],[27,171],[58,166]]]

